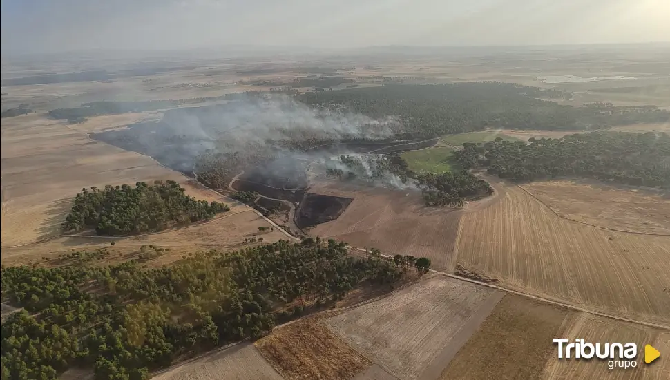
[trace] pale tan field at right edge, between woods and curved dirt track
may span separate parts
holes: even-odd
[[[670,194],[567,180],[522,187],[564,218],[619,231],[670,235]]]

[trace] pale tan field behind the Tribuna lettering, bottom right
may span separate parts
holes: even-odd
[[[562,338],[570,341],[579,338],[591,343],[635,343],[638,345],[637,368],[609,370],[607,361],[598,359],[559,360],[556,345],[553,345],[554,354],[546,363],[544,379],[649,379],[642,376],[645,366],[644,345],[653,342],[658,333],[658,330],[649,327],[602,319],[590,314],[579,314],[561,336]]]

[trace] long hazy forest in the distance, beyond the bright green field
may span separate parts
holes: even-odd
[[[542,97],[564,93],[499,82],[403,85],[352,88],[297,95],[300,102],[348,108],[375,119],[399,116],[415,136],[510,129],[599,129],[635,122],[669,122],[670,111],[651,108],[574,107]]]

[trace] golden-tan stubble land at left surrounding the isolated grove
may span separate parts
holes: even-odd
[[[103,128],[95,118],[88,123],[93,129]],[[95,142],[85,130],[70,129],[38,114],[3,119],[1,148],[3,264],[26,263],[44,254],[53,256],[70,249],[108,245],[110,240],[101,238],[57,238],[72,199],[84,187],[175,180],[195,198],[232,206],[231,211],[211,223],[120,239],[119,247],[234,247],[244,240],[242,236],[258,232],[258,227],[271,227],[250,207],[231,203],[152,158]],[[264,240],[282,237],[285,238],[280,232],[272,231],[264,235]]]

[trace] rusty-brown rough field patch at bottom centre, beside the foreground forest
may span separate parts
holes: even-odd
[[[280,327],[256,342],[284,379],[352,379],[372,363],[317,319]]]

